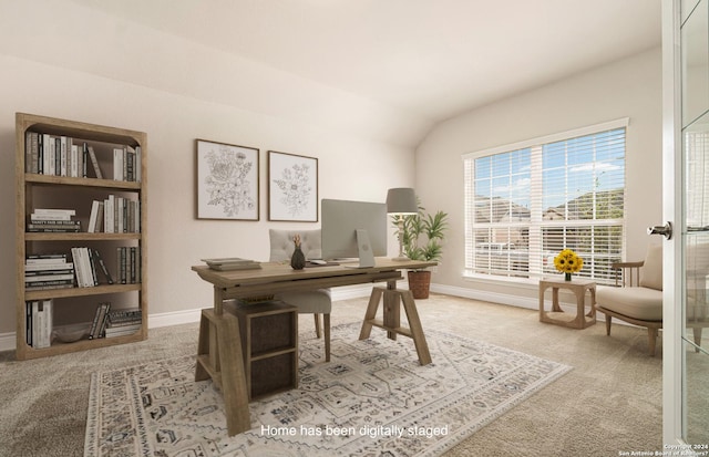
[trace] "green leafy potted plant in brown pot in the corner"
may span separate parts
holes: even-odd
[[[400,221],[403,221],[400,225]],[[419,214],[392,216],[397,236],[401,237],[403,252],[411,260],[440,261],[443,253],[443,238],[448,230],[448,214],[439,210],[431,215],[419,205]],[[428,299],[431,287],[431,271],[409,270],[409,289],[414,299]]]

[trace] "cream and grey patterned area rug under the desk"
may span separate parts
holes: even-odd
[[[249,405],[251,429],[229,437],[222,395],[194,382],[193,356],[94,373],[85,456],[436,456],[571,367],[427,331],[433,363],[413,342],[361,324],[300,339],[299,388]]]

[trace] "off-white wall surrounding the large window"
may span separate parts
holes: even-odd
[[[439,290],[470,297],[512,294],[533,304],[536,287],[464,280],[463,162],[466,153],[629,117],[626,158],[627,259],[643,259],[650,225],[661,222],[661,54],[624,61],[511,96],[441,123],[417,149],[417,191],[429,210],[450,214]]]

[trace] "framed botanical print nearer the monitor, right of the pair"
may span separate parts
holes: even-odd
[[[268,220],[318,221],[318,159],[268,152]]]

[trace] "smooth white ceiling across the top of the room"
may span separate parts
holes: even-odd
[[[660,0],[75,1],[434,122],[660,44]]]

